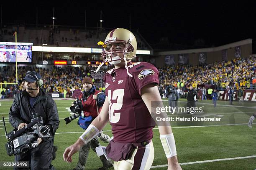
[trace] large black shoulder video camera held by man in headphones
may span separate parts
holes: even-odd
[[[5,135],[8,143],[5,144],[7,155],[18,155],[37,147],[38,138],[49,138],[54,136],[51,124],[44,124],[43,117],[36,117],[20,130],[14,129]]]

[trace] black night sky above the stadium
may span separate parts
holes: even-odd
[[[253,1],[91,2],[84,0],[82,3],[70,1],[65,4],[34,4],[33,1],[22,1],[17,5],[3,4],[3,23],[19,20],[35,24],[38,7],[38,24],[52,24],[54,6],[56,25],[84,26],[86,10],[87,27],[97,27],[102,10],[103,27],[129,28],[131,13],[131,28],[139,29],[151,45],[157,44],[161,37],[168,37],[171,43],[184,45],[193,45],[195,40],[203,39],[209,47],[247,38],[256,39],[256,2]]]

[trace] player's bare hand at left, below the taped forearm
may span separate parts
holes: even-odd
[[[77,153],[82,145],[84,145],[84,142],[81,139],[78,139],[76,143],[66,148],[63,153],[64,161],[67,163],[72,163],[72,155]]]

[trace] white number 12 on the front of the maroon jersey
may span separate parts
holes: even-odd
[[[115,113],[114,110],[120,110],[123,106],[123,95],[124,95],[124,89],[117,89],[113,91],[112,100],[116,100],[116,103],[111,102],[111,90],[108,90],[108,102],[109,105],[109,121],[111,123],[117,123],[120,120],[120,112]]]

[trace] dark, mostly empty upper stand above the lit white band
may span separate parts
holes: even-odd
[[[0,29],[0,41],[14,42],[13,33],[17,31],[19,42],[33,42],[34,45],[47,44],[50,46],[60,47],[90,47],[98,48],[97,42],[105,40],[106,35],[111,29],[104,28],[102,31],[99,28],[88,28],[85,30],[82,27],[67,27],[56,25],[54,29],[51,25],[35,26],[13,26],[5,25]],[[151,50],[146,40],[134,31],[139,50]]]

